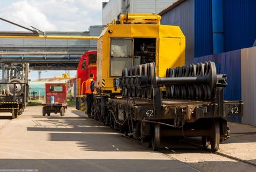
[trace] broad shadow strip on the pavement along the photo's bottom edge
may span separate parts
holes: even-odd
[[[157,166],[156,166],[157,164]],[[2,159],[1,169],[38,171],[195,171],[176,160],[45,160]]]

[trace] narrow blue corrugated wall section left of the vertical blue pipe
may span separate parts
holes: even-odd
[[[195,54],[201,57],[212,54],[212,1],[195,1]]]

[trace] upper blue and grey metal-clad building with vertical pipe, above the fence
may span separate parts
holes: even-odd
[[[161,23],[178,25],[186,37],[186,62],[194,57],[252,47],[255,0],[179,0],[160,12]]]

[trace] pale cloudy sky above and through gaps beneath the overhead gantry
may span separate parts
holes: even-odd
[[[90,25],[101,25],[102,2],[102,0],[0,0],[0,17],[42,31],[88,31]],[[0,31],[24,30],[0,21]],[[61,76],[64,73],[65,71],[42,72],[41,78]],[[70,71],[70,75],[76,75],[76,71]],[[31,80],[37,77],[37,71],[29,73]]]

